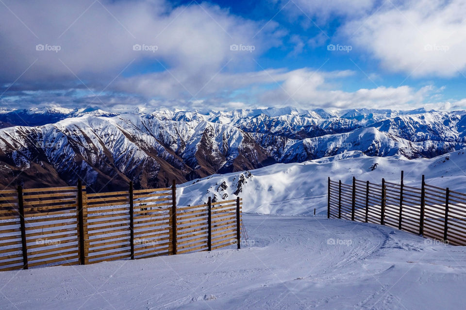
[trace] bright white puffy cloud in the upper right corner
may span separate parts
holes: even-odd
[[[464,0],[394,3],[388,1],[374,15],[352,20],[343,33],[389,71],[449,77],[465,69]]]

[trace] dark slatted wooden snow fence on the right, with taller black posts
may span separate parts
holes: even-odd
[[[466,245],[466,194],[429,185],[381,184],[358,180],[352,184],[328,179],[328,218],[381,224],[451,245]]]

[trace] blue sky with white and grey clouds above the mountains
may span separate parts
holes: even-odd
[[[0,104],[464,109],[465,9],[464,0],[5,0]]]

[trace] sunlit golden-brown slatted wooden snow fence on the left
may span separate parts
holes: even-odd
[[[177,208],[176,184],[0,191],[0,271],[240,248],[242,198]]]

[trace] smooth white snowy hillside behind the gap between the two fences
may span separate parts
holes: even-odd
[[[359,151],[303,163],[276,163],[260,169],[213,175],[179,186],[179,205],[244,198],[245,212],[264,214],[313,214],[327,212],[327,178],[350,184],[353,176],[380,184],[382,178],[419,185],[426,182],[466,193],[466,154],[455,151],[432,159],[408,160],[403,156],[369,157]]]

